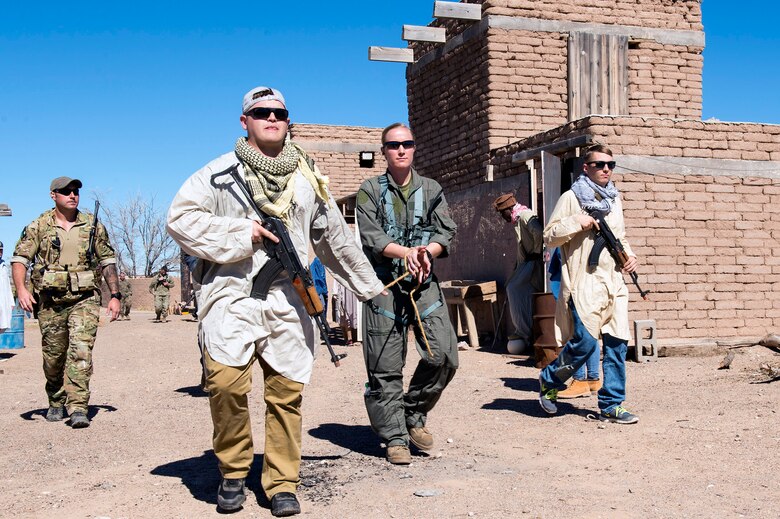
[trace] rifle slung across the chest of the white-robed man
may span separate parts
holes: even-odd
[[[254,198],[252,198],[252,194],[249,191],[249,186],[244,179],[241,178],[241,175],[238,174],[238,164],[234,164],[224,171],[215,173],[213,177],[222,175],[230,175],[233,178],[233,181],[241,190],[244,197],[249,202],[249,205],[260,218],[260,225],[279,238],[279,243],[274,243],[267,238],[263,238],[263,246],[268,254],[268,262],[260,269],[257,276],[255,276],[255,279],[252,282],[252,291],[250,295],[265,301],[268,297],[268,290],[271,287],[271,283],[276,280],[283,270],[286,270],[293,288],[298,293],[301,301],[303,301],[306,312],[314,318],[314,321],[320,329],[325,345],[328,347],[328,353],[330,353],[330,361],[338,367],[341,364],[341,359],[346,357],[347,354],[342,353],[336,355],[333,351],[333,346],[331,346],[330,340],[328,339],[328,322],[325,320],[325,309],[322,306],[320,296],[317,294],[317,289],[314,287],[311,272],[309,272],[307,267],[304,267],[303,264],[301,264],[301,260],[298,258],[298,253],[295,251],[295,247],[292,244],[290,234],[287,232],[287,227],[284,225],[284,222],[275,216],[268,216],[257,206],[257,203]]]

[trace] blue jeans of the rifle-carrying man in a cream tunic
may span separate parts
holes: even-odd
[[[542,383],[551,389],[566,389],[565,382],[585,364],[594,352],[598,354],[599,342],[582,324],[574,303],[569,301],[574,321],[574,334],[563,347],[558,358],[544,368],[539,375]],[[626,399],[626,350],[628,341],[604,334],[604,385],[599,390],[599,409],[612,411]]]

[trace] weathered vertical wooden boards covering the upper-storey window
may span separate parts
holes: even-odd
[[[628,36],[569,34],[569,120],[628,115]]]

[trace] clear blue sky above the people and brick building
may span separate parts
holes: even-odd
[[[192,172],[241,134],[241,97],[265,84],[293,122],[385,126],[407,118],[403,24],[433,0],[6,2],[0,15],[0,218],[8,259],[51,207],[55,176],[109,203],[142,191],[167,207]],[[780,124],[780,6],[704,0],[703,118]]]

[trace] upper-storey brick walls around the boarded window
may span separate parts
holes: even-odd
[[[410,44],[418,60],[407,68],[417,164],[448,192],[479,185],[490,150],[568,122],[569,29],[497,28],[498,19],[621,25],[629,36],[629,115],[701,118],[703,48],[635,36],[640,29],[702,31],[698,0],[472,3],[483,4],[481,22],[431,23],[447,28],[448,42],[462,38],[457,45],[445,52]]]

